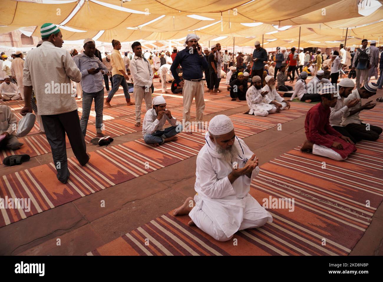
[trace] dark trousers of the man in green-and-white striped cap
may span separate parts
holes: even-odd
[[[77,110],[58,115],[41,115],[45,134],[52,149],[53,163],[57,170],[57,179],[66,183],[69,178],[65,132],[72,151],[80,165],[89,161],[85,139],[80,127]]]

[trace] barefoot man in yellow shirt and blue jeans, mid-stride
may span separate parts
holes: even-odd
[[[110,55],[110,62],[112,65],[113,87],[108,94],[108,98],[106,98],[105,105],[109,108],[112,107],[110,105],[110,101],[117,92],[120,85],[124,89],[126,104],[128,106],[134,105],[134,103],[130,101],[129,87],[128,83],[126,82],[126,79],[129,79],[129,76],[125,73],[125,64],[119,53],[119,50],[121,49],[121,43],[118,40],[113,39],[112,45],[113,50]]]

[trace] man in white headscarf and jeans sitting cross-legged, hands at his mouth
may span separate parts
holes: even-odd
[[[163,96],[153,99],[153,109],[146,112],[144,122],[142,122],[142,135],[147,144],[157,147],[165,142],[177,141],[175,136],[182,132],[182,125],[177,124],[177,119],[172,116],[170,110],[166,109],[166,101]],[[164,129],[165,122],[170,123],[170,127]]]

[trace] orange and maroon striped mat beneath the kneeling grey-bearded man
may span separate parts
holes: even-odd
[[[383,200],[383,139],[357,147],[344,162],[297,147],[262,165],[250,194],[260,204],[270,203],[273,222],[238,231],[227,242],[170,211],[87,255],[347,255]],[[294,199],[294,205],[272,206],[285,198]]]

